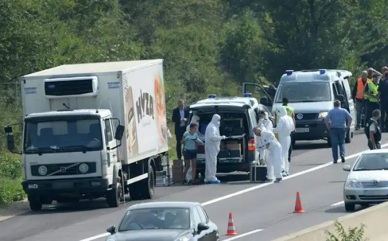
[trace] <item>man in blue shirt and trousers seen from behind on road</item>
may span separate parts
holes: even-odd
[[[345,136],[346,130],[352,124],[352,119],[352,115],[346,109],[341,108],[341,102],[338,99],[334,100],[334,109],[331,109],[324,119],[327,129],[330,130],[333,163],[337,163],[338,160],[338,146],[341,162],[345,162]]]

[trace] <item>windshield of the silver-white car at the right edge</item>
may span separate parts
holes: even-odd
[[[388,153],[361,155],[353,171],[388,170]]]

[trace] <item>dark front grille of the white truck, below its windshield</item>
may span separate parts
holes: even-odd
[[[89,166],[89,170],[86,173],[81,173],[79,166],[85,163]],[[40,175],[39,167],[46,166],[47,174]],[[81,174],[91,174],[96,172],[96,162],[74,162],[74,163],[58,163],[58,164],[46,164],[46,165],[32,165],[31,174],[32,176],[37,177],[47,177],[47,176],[67,176],[67,175],[81,175]]]

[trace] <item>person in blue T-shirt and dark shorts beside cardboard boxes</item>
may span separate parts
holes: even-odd
[[[196,174],[196,158],[197,158],[197,143],[203,144],[201,140],[198,139],[197,132],[198,125],[196,123],[191,123],[189,126],[189,131],[183,133],[181,144],[183,144],[183,158],[185,160],[185,169],[183,172],[183,178],[186,180],[187,172],[189,167],[192,168],[192,180],[186,180],[187,182],[194,182]]]

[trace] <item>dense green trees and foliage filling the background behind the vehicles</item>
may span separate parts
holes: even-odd
[[[380,69],[386,2],[0,0],[0,123],[21,120],[20,96],[7,83],[60,64],[163,58],[168,116],[178,97],[240,95],[243,81],[276,83],[285,69]],[[20,164],[5,153],[4,133],[1,140],[4,203],[20,197],[4,191],[20,190],[11,171]]]

